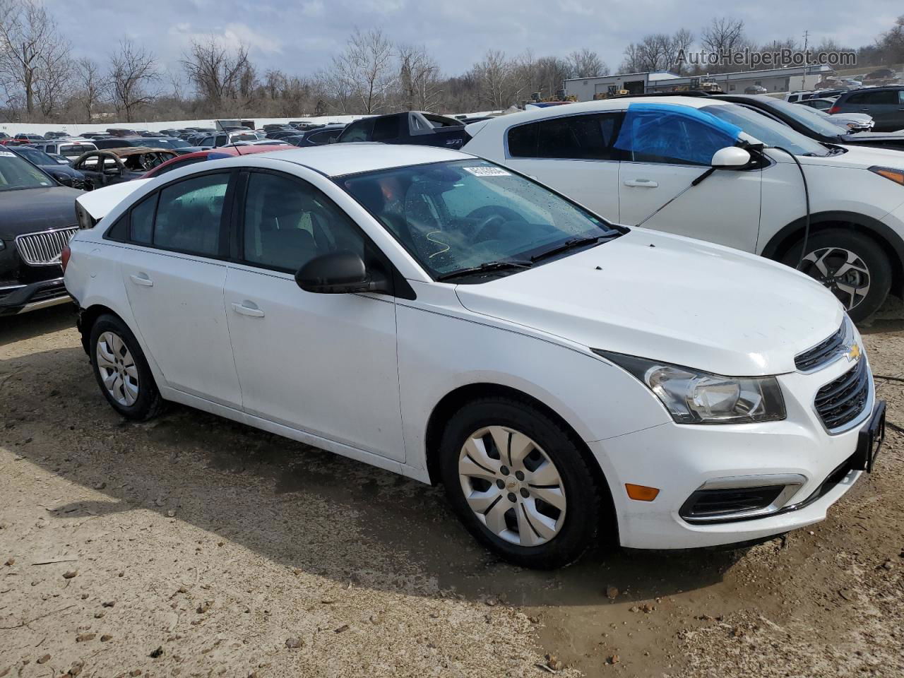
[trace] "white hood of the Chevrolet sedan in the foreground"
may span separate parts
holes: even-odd
[[[645,229],[456,292],[478,314],[729,376],[793,372],[796,353],[843,320],[835,297],[791,268]]]

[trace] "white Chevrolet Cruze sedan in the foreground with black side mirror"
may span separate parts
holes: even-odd
[[[790,268],[422,146],[116,189],[81,201],[109,212],[63,258],[115,410],[174,400],[442,482],[523,565],[786,532],[871,466],[884,408],[860,336]]]

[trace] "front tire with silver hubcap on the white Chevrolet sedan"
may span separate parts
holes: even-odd
[[[521,461],[519,450],[528,451]],[[453,510],[477,541],[505,560],[557,568],[577,560],[596,538],[607,490],[598,486],[573,434],[528,401],[468,403],[449,419],[439,454]]]

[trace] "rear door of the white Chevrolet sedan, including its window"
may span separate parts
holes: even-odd
[[[139,202],[120,268],[138,333],[167,385],[239,410],[218,260],[229,181],[223,172],[193,176]]]

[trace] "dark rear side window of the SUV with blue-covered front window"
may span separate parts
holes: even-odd
[[[620,120],[620,113],[599,113],[551,118],[513,127],[508,133],[509,155],[612,160],[615,159],[612,144]]]

